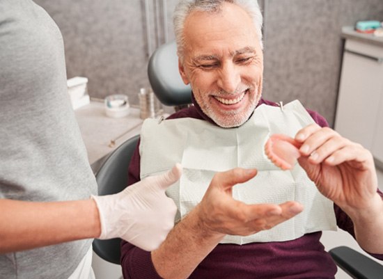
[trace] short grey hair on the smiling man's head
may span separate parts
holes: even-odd
[[[177,53],[181,60],[183,58],[185,47],[183,29],[187,16],[190,15],[194,10],[200,10],[209,13],[219,13],[224,2],[234,3],[247,11],[251,19],[253,19],[256,33],[260,40],[260,47],[263,48],[263,19],[257,0],[180,0],[173,13],[173,28],[175,33],[175,42],[177,43]]]

